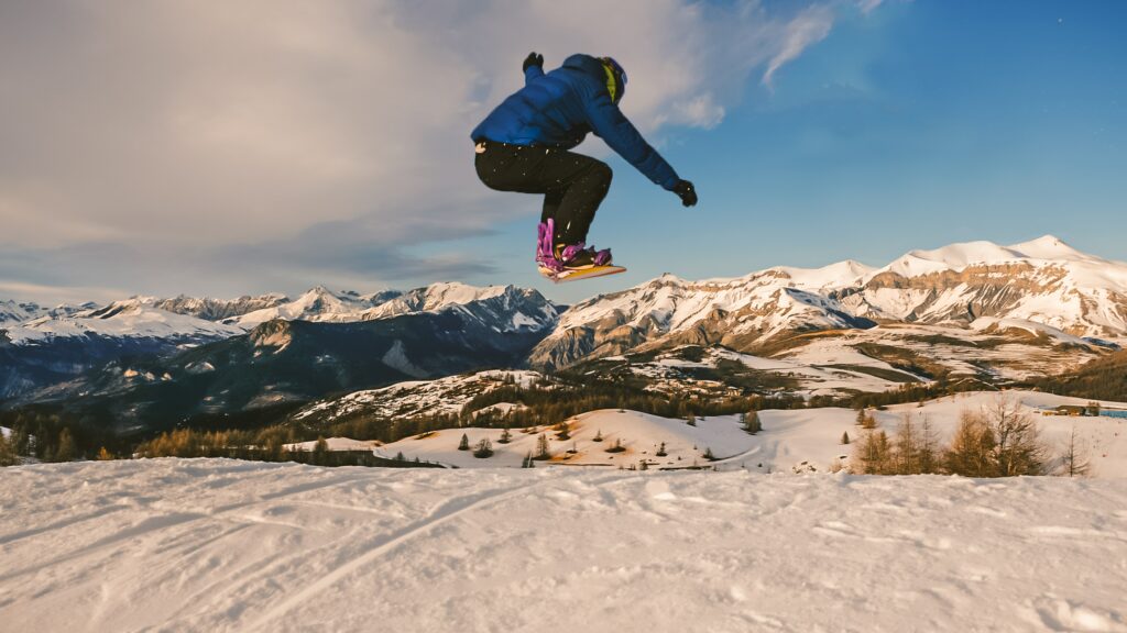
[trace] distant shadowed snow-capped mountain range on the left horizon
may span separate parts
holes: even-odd
[[[285,329],[272,327],[274,321],[348,324],[417,314],[456,314],[454,321],[449,322],[460,323],[463,333],[489,333],[480,337],[482,349],[509,349],[512,345],[495,339],[513,335],[521,347],[533,337],[531,342],[534,344],[558,319],[557,307],[534,289],[478,288],[446,283],[406,293],[387,291],[360,295],[316,287],[295,300],[279,294],[230,301],[132,297],[106,306],[83,307],[79,311],[25,309],[24,312],[34,313],[36,318],[0,328],[0,399],[71,380],[126,356],[170,356],[245,335],[255,340],[276,337],[276,332]],[[15,313],[15,310],[10,311]],[[428,322],[425,327],[434,326]],[[408,340],[419,333],[405,333],[400,338]],[[465,349],[459,349],[451,357],[452,367],[465,368],[464,359],[453,360],[464,358],[464,353]],[[398,358],[397,354],[388,356],[392,363]],[[416,358],[414,364],[403,358],[399,365],[408,376],[433,376],[435,371],[431,358]],[[427,369],[419,369],[419,366]],[[163,374],[161,371],[154,375]],[[151,375],[151,372],[133,371],[130,375],[136,378]],[[119,387],[119,384],[115,386]]]

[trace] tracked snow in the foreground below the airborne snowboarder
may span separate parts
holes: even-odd
[[[1127,631],[1127,481],[0,470],[11,631]]]

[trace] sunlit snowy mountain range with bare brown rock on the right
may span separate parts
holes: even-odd
[[[1024,328],[1082,344],[1122,342],[1127,264],[1084,255],[1046,235],[1010,247],[968,242],[916,250],[881,268],[843,261],[731,279],[665,275],[573,306],[531,362],[560,367],[683,344],[778,351],[796,332],[897,322]]]

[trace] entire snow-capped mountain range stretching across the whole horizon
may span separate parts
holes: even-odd
[[[516,366],[547,371],[690,345],[832,371],[876,363],[923,380],[962,373],[1012,381],[1074,367],[1127,344],[1127,264],[1046,235],[1008,247],[914,250],[879,268],[846,260],[695,282],[664,275],[566,311],[534,289],[458,283],[371,294],[319,286],[296,298],[133,297],[55,310],[9,301],[0,311],[0,398],[124,355],[168,356],[248,333],[273,340],[290,331],[274,321],[348,324],[412,314],[456,314],[462,327],[489,332],[491,349],[508,335],[518,335],[521,345],[539,338]],[[421,341],[419,336],[408,338]],[[470,348],[458,345],[465,367]],[[419,358],[403,349],[381,350],[380,362],[407,376],[437,375],[438,348]],[[645,362],[639,366],[650,371]]]

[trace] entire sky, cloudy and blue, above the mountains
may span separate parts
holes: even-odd
[[[0,298],[575,302],[1046,233],[1127,260],[1125,21],[1113,0],[3,3]],[[698,186],[686,209],[579,148],[615,170],[589,238],[625,275],[543,280],[539,199],[473,176],[468,133],[531,50],[618,57],[624,112]]]

